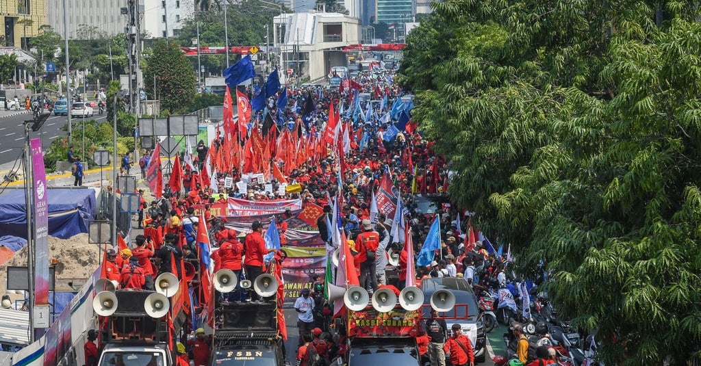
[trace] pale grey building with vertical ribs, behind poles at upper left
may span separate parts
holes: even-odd
[[[46,4],[46,22],[42,18],[39,25],[50,25],[54,32],[63,35],[64,1],[68,9],[68,39],[95,36],[93,32],[81,32],[89,30],[90,27],[108,37],[124,33],[125,18],[120,14],[120,8],[125,6],[124,0],[43,0],[41,2]]]

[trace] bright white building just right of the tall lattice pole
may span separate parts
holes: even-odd
[[[194,0],[142,0],[141,28],[148,38],[177,36],[185,19],[192,18]]]

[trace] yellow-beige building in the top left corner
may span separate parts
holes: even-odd
[[[27,49],[27,41],[37,36],[46,19],[46,0],[2,0],[0,22],[4,29],[1,46]]]

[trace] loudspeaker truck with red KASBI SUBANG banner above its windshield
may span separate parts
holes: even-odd
[[[417,287],[401,292],[394,286],[372,294],[362,287],[329,287],[331,300],[343,297],[348,335],[343,363],[348,366],[421,365],[416,334],[421,327],[423,293]]]

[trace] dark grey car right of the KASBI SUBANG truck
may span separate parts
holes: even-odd
[[[477,297],[472,292],[472,287],[464,278],[443,277],[427,278],[421,280],[423,290],[423,306],[421,317],[430,318],[430,299],[437,290],[449,290],[455,295],[455,306],[451,311],[439,313],[445,319],[448,329],[453,324],[460,324],[463,334],[472,342],[472,351],[475,353],[476,362],[484,362],[486,359],[486,332],[482,321],[482,313],[477,307]]]

